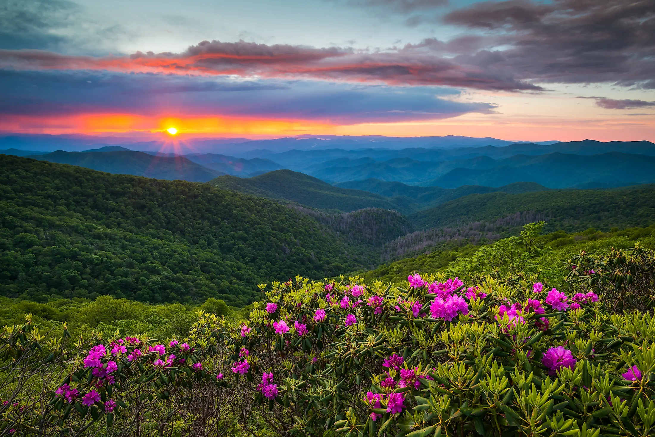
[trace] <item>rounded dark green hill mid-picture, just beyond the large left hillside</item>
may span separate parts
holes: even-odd
[[[288,200],[318,209],[356,211],[362,208],[407,209],[392,201],[361,190],[338,188],[291,170],[276,170],[248,179],[221,176],[209,184],[269,199]]]

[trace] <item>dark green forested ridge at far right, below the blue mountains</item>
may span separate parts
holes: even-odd
[[[649,226],[655,222],[655,186],[613,190],[550,190],[525,194],[471,194],[409,216],[417,228],[495,222],[521,211],[544,215],[549,232]]]

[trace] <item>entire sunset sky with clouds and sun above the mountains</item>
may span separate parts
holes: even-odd
[[[655,141],[655,0],[5,0],[0,133]]]

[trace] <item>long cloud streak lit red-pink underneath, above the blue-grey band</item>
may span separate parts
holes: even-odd
[[[70,56],[44,50],[0,50],[0,68],[86,69],[177,75],[232,75],[320,79],[388,85],[432,85],[483,90],[540,90],[512,73],[479,63],[458,63],[434,52],[436,40],[384,52],[288,44],[203,41],[185,52],[131,56]],[[477,61],[477,60],[476,60]]]

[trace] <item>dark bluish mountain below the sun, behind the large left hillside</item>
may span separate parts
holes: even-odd
[[[189,182],[206,182],[223,174],[219,171],[199,166],[183,156],[168,158],[154,156],[132,150],[115,150],[109,152],[56,152],[33,155],[37,160],[70,164],[107,173],[154,177],[173,181],[181,179]]]

